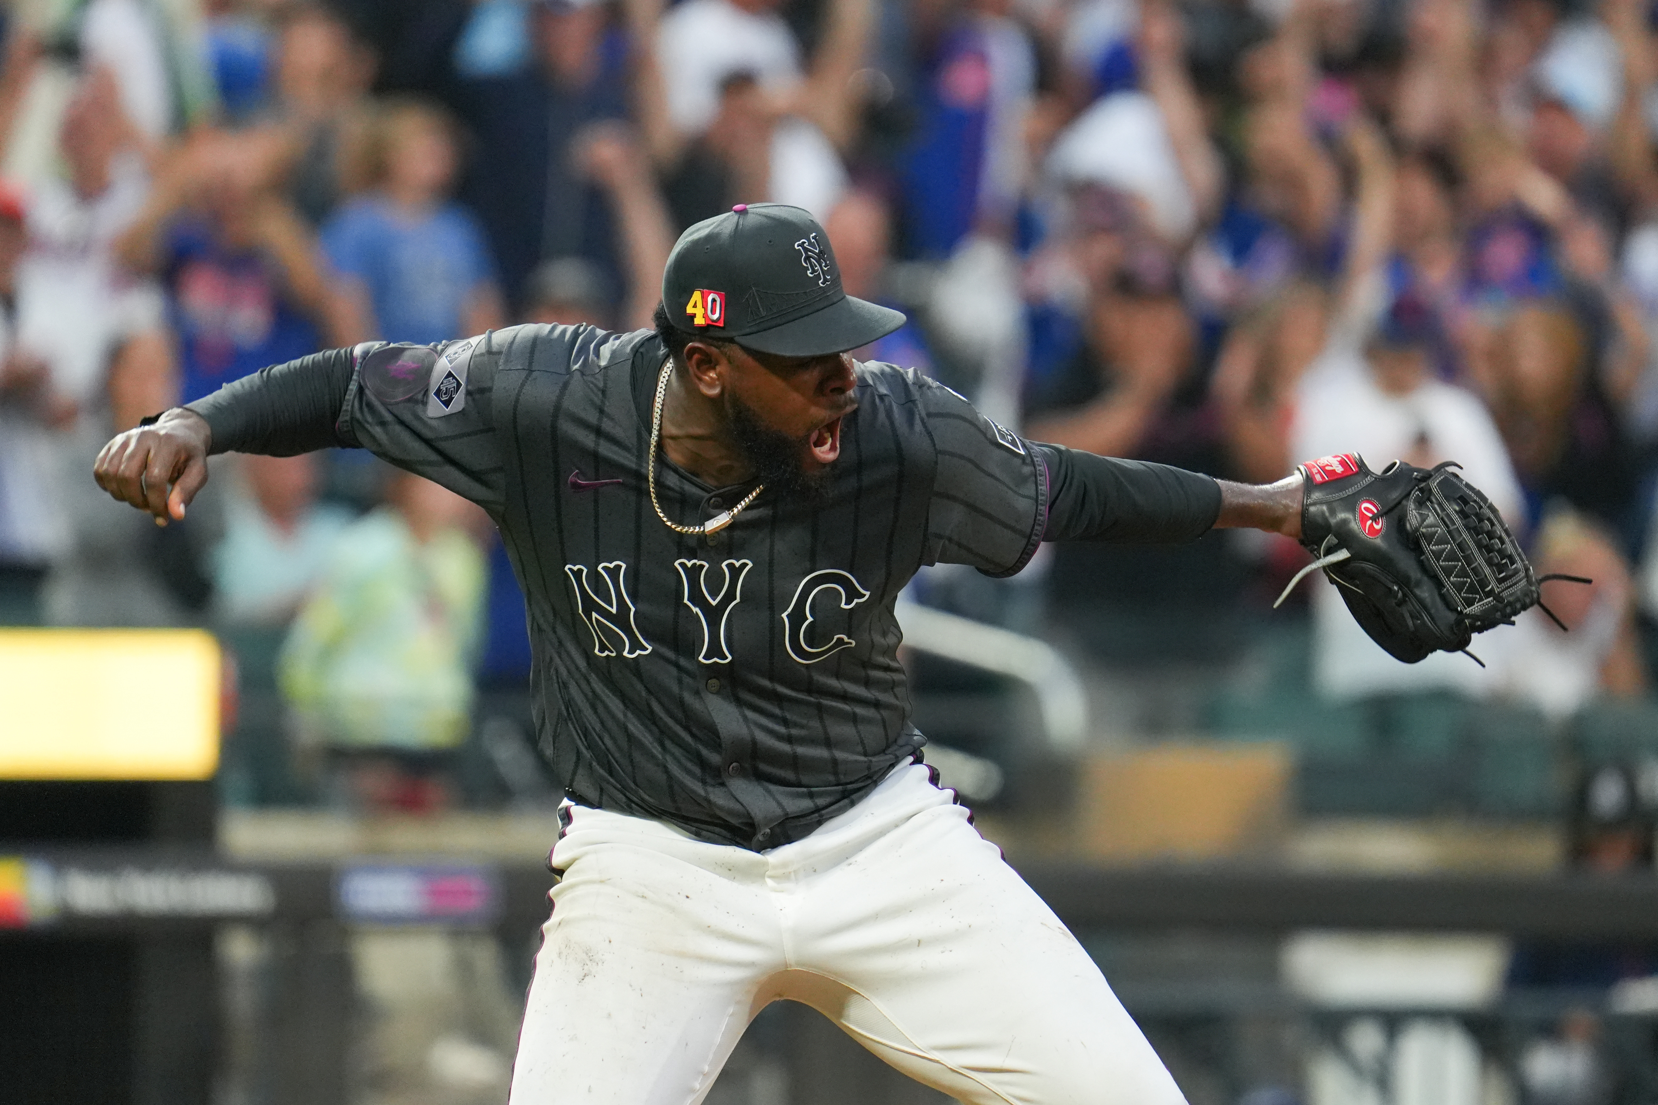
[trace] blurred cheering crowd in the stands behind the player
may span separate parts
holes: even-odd
[[[522,600],[466,504],[227,457],[186,525],[111,431],[270,363],[650,325],[690,224],[814,212],[910,325],[857,356],[1026,436],[1272,480],[1457,461],[1562,633],[1403,666],[1308,588],[1308,692],[1565,719],[1653,679],[1658,7],[1643,0],[15,0],[0,65],[0,623],[209,625],[347,797],[446,802]],[[1063,548],[922,598],[1103,663],[1232,663],[1293,542]],[[1041,613],[1031,611],[1046,611]],[[438,759],[434,759],[438,757]],[[250,784],[252,785],[252,784]],[[270,795],[264,795],[269,799]],[[257,795],[255,795],[257,799]],[[250,800],[255,800],[250,799]]]

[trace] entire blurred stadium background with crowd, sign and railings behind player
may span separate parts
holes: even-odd
[[[1031,437],[1457,459],[1595,578],[1486,668],[1270,610],[1305,557],[1257,533],[917,578],[928,759],[1194,1105],[1658,1100],[1658,8],[3,17],[0,1097],[504,1098],[559,795],[487,520],[338,452],[156,528],[91,457],[323,346],[648,325],[769,199],[909,311],[861,356]],[[854,1100],[938,1098],[799,1007],[710,1097]]]

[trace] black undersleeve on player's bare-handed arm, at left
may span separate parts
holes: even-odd
[[[338,431],[351,368],[351,350],[323,350],[262,368],[184,409],[207,421],[211,452],[216,454],[292,457],[313,449],[355,446]]]

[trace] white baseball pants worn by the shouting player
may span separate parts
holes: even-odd
[[[569,807],[512,1105],[695,1105],[778,999],[972,1105],[1184,1105],[1093,959],[952,799],[905,765],[763,853]]]

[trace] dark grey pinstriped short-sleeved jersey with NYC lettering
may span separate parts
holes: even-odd
[[[771,848],[924,744],[894,601],[922,565],[1025,567],[1046,470],[953,391],[859,364],[816,509],[764,490],[730,528],[681,535],[645,482],[663,359],[652,331],[587,326],[501,330],[436,361],[365,348],[338,429],[496,519],[529,606],[539,739],[572,797]],[[746,492],[657,464],[681,524]]]

